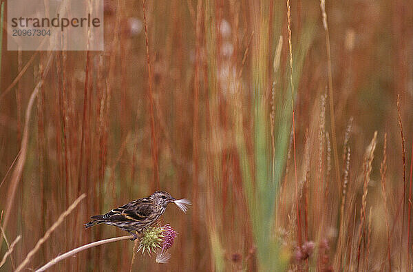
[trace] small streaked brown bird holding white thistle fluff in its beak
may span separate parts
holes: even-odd
[[[174,202],[184,212],[187,212],[187,206],[191,205],[189,200],[176,200],[166,191],[156,191],[147,198],[133,200],[100,216],[92,216],[94,220],[86,223],[85,228],[100,223],[112,224],[131,233],[134,236],[131,240],[135,240],[138,238],[136,231],[141,232],[156,222],[167,209],[169,202]]]

